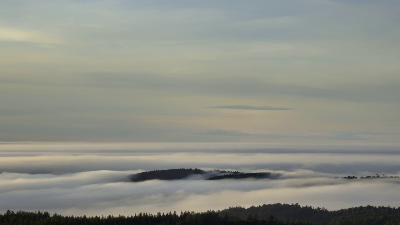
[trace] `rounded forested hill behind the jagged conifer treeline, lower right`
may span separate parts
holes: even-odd
[[[287,222],[290,220],[305,221],[321,225],[400,225],[400,207],[352,207],[338,211],[328,211],[325,208],[301,207],[299,204],[264,204],[244,207],[230,207],[218,211],[220,216],[225,214],[238,215],[241,219],[248,215],[256,215],[260,219],[266,219],[269,215],[281,218]]]

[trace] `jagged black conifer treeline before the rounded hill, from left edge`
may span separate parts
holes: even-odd
[[[95,216],[74,217],[58,214],[50,215],[48,212],[7,211],[0,214],[0,225],[312,225],[300,221],[284,223],[269,215],[266,219],[259,219],[256,215],[248,215],[245,219],[230,216],[227,213],[220,216],[215,211],[202,213],[181,212],[173,213],[139,213],[131,216]]]

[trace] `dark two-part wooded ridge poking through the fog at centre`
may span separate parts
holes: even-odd
[[[242,173],[238,171],[225,171],[225,170],[204,171],[196,168],[196,169],[163,169],[163,170],[147,171],[130,175],[130,180],[134,182],[147,181],[153,179],[179,180],[179,179],[185,179],[191,175],[204,175],[204,179],[206,180],[244,179],[244,178],[276,179],[277,177],[280,176],[280,174],[274,174],[274,176],[271,176],[271,173]]]

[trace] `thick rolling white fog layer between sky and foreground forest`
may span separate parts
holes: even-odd
[[[174,168],[280,173],[278,179],[134,183],[128,175]],[[0,143],[0,212],[132,215],[299,203],[329,210],[400,206],[400,148],[279,143]]]

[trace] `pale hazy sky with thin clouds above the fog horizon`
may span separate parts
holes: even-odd
[[[0,141],[400,143],[397,0],[0,2]]]

